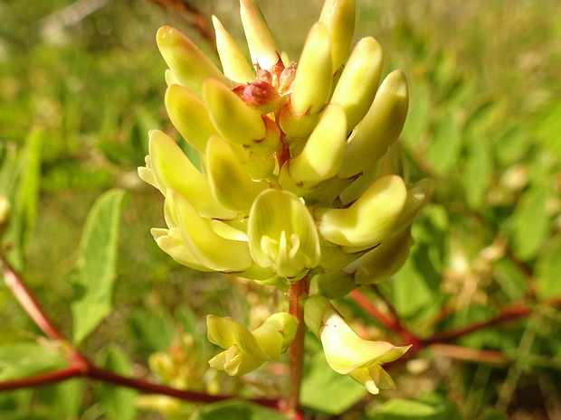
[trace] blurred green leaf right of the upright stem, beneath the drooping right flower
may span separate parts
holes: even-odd
[[[300,403],[330,415],[339,415],[367,394],[366,388],[331,369],[323,351],[316,353],[302,379]]]

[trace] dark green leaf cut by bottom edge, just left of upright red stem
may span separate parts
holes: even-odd
[[[230,400],[204,406],[189,420],[286,420],[286,417],[271,408]]]

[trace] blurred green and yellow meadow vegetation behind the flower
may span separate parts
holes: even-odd
[[[321,3],[260,2],[290,57],[300,54]],[[191,4],[206,23],[218,15],[240,39],[237,1]],[[178,266],[149,235],[164,226],[162,199],[136,168],[149,129],[174,133],[154,38],[171,24],[212,56],[192,16],[148,0],[8,0],[0,15],[0,194],[13,200],[9,261],[62,331],[71,331],[70,303],[84,293],[76,261],[86,216],[103,192],[126,191],[114,311],[81,342],[82,352],[174,387],[277,396],[287,386],[281,366],[243,382],[193,367],[214,352],[204,314],[257,323],[278,296]],[[309,359],[308,416],[561,418],[561,4],[357,0],[355,38],[369,34],[384,47],[385,72],[401,68],[409,78],[402,140],[414,178],[429,176],[433,192],[414,225],[409,262],[362,293],[401,320],[421,350],[393,367],[398,389],[379,397]],[[365,336],[401,343],[397,330],[356,300],[341,310],[364,320],[356,328]],[[0,319],[0,381],[58,366],[56,351],[4,284]],[[469,326],[477,331],[461,330]],[[310,351],[315,345],[309,340]],[[43,363],[29,363],[33,351]],[[192,411],[81,379],[0,393],[0,416],[10,420],[186,418]]]

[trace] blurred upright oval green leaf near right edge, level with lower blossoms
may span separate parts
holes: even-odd
[[[547,215],[547,185],[531,187],[522,195],[512,214],[512,240],[522,259],[536,257],[549,234]]]

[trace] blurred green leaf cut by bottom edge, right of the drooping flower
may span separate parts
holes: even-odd
[[[451,400],[433,392],[420,400],[395,398],[384,403],[376,420],[461,420]]]

